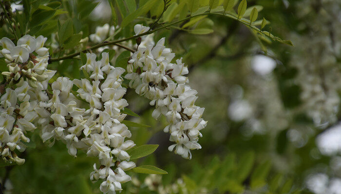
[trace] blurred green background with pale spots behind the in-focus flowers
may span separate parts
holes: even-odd
[[[136,145],[160,145],[137,164],[169,174],[131,173],[133,181],[122,193],[341,194],[341,1],[247,3],[263,6],[258,18],[271,21],[273,34],[295,47],[260,45],[240,22],[218,16],[197,24],[214,30],[207,35],[178,29],[153,34],[155,42],[166,37],[166,46],[188,65],[189,85],[198,91],[196,104],[205,107],[208,125],[201,131],[202,149],[185,160],[167,149],[166,120],[155,121],[148,100],[128,90],[128,108],[140,115],[128,118],[151,126],[132,128],[132,139]],[[98,1],[85,23],[84,34],[112,25],[109,2]],[[71,65],[56,68],[61,75],[78,71]],[[49,147],[38,134],[33,139],[24,165],[0,167],[7,194],[100,193],[100,183],[89,179],[95,159],[84,153],[73,158],[64,144]]]

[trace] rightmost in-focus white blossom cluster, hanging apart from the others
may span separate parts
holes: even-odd
[[[141,33],[143,27],[137,28],[135,32]],[[207,124],[201,118],[204,108],[194,105],[197,91],[187,85],[189,80],[184,76],[188,74],[187,66],[181,59],[176,60],[176,64],[171,63],[175,54],[164,43],[165,38],[162,38],[155,46],[138,47],[129,61],[125,78],[131,80],[129,86],[135,88],[137,94],[155,105],[152,113],[155,119],[161,114],[166,116],[169,125],[164,131],[170,132],[170,141],[175,143],[169,150],[191,159],[190,150],[201,148],[198,144],[202,136],[200,130]]]

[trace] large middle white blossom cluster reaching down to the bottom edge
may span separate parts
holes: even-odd
[[[128,105],[122,98],[126,93],[121,86],[125,70],[110,65],[106,52],[100,61],[96,61],[94,53],[86,55],[87,62],[81,69],[89,74],[89,80],[60,77],[52,83],[53,97],[45,103],[51,110],[51,119],[42,126],[42,139],[62,140],[72,156],[76,157],[77,150],[84,150],[87,156],[98,158],[100,166],[94,164],[90,178],[103,179],[100,190],[114,194],[122,190],[121,183],[131,180],[124,171],[135,167],[127,153],[135,144],[126,140],[131,132],[121,123],[126,116],[121,110]],[[76,96],[71,91],[74,85],[78,88]]]

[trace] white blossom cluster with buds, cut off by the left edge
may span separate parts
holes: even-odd
[[[30,141],[27,131],[37,128],[39,109],[49,100],[48,81],[56,71],[46,69],[46,39],[24,35],[17,46],[6,37],[0,40],[0,57],[5,58],[9,69],[2,72],[4,80],[0,84],[0,156],[8,162],[25,162],[15,150],[26,149],[24,143]]]

